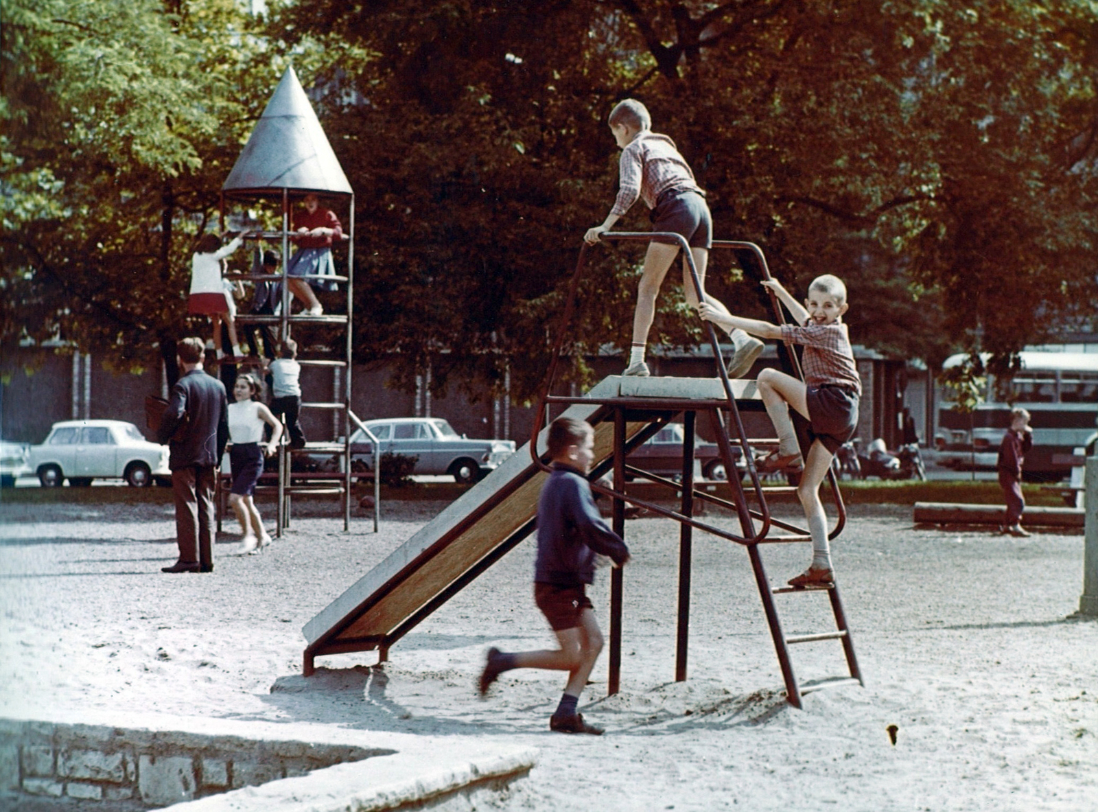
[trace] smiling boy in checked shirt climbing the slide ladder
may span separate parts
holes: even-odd
[[[819,498],[820,482],[831,466],[836,451],[854,433],[858,425],[858,403],[862,396],[862,381],[854,365],[847,325],[842,314],[847,303],[847,286],[830,274],[816,277],[808,286],[804,307],[774,279],[763,281],[774,291],[796,320],[796,324],[777,326],[754,319],[726,315],[703,303],[702,318],[726,330],[740,327],[763,338],[803,344],[802,358],[805,380],[763,369],[759,374],[759,394],[766,413],[777,432],[778,447],[759,464],[760,472],[788,470],[803,466],[797,497],[808,520],[813,536],[813,563],[804,572],[789,580],[797,588],[827,587],[834,580],[831,570],[831,552],[827,538],[827,514]],[[797,447],[797,436],[789,420],[789,404],[809,421],[813,444],[808,459],[803,463]]]

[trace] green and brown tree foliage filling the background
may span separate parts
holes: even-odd
[[[691,162],[718,237],[759,243],[791,289],[848,280],[858,343],[1007,357],[1098,310],[1094,0],[270,1],[255,40],[228,0],[8,5],[3,283],[29,308],[5,337],[124,355],[175,330],[189,240],[291,57],[357,192],[358,359],[399,353],[408,385],[429,364],[436,390],[498,388],[509,368],[522,399],[562,326],[573,376],[625,345],[637,245],[592,252],[559,319],[629,96]],[[78,5],[86,32],[58,22]],[[142,44],[139,77],[89,59],[108,32]],[[97,129],[105,110],[132,136]],[[642,209],[619,227],[646,230]],[[716,255],[707,287],[765,318],[758,272]],[[653,343],[699,340],[676,276]]]

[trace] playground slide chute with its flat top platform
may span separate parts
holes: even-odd
[[[737,400],[757,399],[754,381],[733,380]],[[716,378],[623,378],[602,380],[586,397],[722,399]],[[594,465],[614,453],[613,422],[597,403],[576,403],[564,412],[595,429]],[[626,440],[652,420],[626,422]],[[545,449],[546,431],[538,437]],[[381,649],[400,639],[435,609],[460,591],[525,538],[535,526],[538,496],[546,474],[530,459],[529,443],[496,470],[466,491],[389,557],[305,624],[309,642],[304,672],[325,654]]]

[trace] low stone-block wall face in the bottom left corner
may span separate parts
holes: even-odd
[[[0,793],[164,807],[393,749],[0,719]]]

